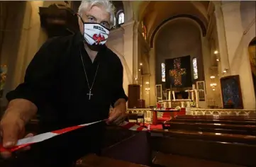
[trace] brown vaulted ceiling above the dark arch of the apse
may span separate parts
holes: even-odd
[[[208,26],[208,4],[209,1],[133,1],[133,11],[138,21],[143,21],[152,41],[158,28],[172,18],[191,18],[204,33]]]

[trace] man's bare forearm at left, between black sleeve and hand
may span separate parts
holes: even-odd
[[[38,111],[36,105],[26,99],[14,99],[11,100],[4,117],[12,115],[13,117],[19,117],[24,123],[27,123]]]

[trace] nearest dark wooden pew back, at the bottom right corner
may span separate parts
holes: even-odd
[[[165,157],[165,161],[166,159],[169,159],[169,161],[165,163],[165,166],[167,167],[171,165],[174,166],[174,161],[177,162],[177,159],[173,155],[183,157],[187,156],[188,158],[201,160],[204,159],[208,161],[230,163],[238,166],[256,166],[255,145],[236,144],[230,142],[213,142],[205,141],[202,139],[186,139],[180,137],[163,136],[152,136],[150,138],[150,143],[152,150],[166,154],[167,157]],[[172,154],[172,156],[170,154]],[[155,157],[155,159],[157,159],[157,157]],[[172,163],[170,163],[171,161]],[[183,161],[187,161],[188,165],[189,159],[183,159]],[[201,162],[198,161],[198,163],[196,164],[201,164]],[[164,166],[164,164],[160,165]],[[180,162],[177,166],[182,166],[182,162]]]

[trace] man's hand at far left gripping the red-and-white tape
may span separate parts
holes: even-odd
[[[0,122],[0,135],[1,144],[4,148],[8,149],[16,145],[18,139],[24,137],[25,134],[25,122],[21,120],[20,115],[16,112],[6,112]],[[26,137],[31,137],[33,134],[28,134]],[[29,147],[23,150],[28,150]],[[3,158],[11,157],[11,152],[1,152]]]

